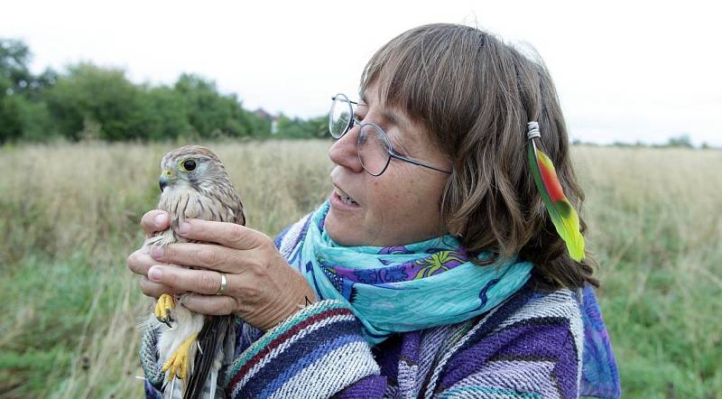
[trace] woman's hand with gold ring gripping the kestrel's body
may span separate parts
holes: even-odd
[[[150,235],[168,228],[168,215],[152,210],[143,216],[143,229]],[[290,267],[273,245],[273,240],[252,228],[232,223],[190,219],[179,227],[182,237],[216,244],[171,244],[153,246],[151,254],[139,249],[128,257],[135,274],[143,275],[141,290],[149,296],[162,293],[195,292],[183,298],[191,311],[222,315],[235,313],[245,322],[270,329],[315,302],[306,280]],[[202,267],[192,270],[174,266]],[[220,273],[226,274],[227,288],[220,288]]]

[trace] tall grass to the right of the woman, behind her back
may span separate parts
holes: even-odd
[[[722,397],[722,152],[575,149],[629,397]]]

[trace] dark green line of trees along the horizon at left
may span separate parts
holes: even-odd
[[[326,135],[326,116],[253,112],[198,75],[182,74],[170,86],[134,84],[125,70],[89,62],[35,75],[31,59],[24,42],[0,39],[0,144]]]

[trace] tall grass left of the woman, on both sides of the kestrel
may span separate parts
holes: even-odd
[[[248,225],[273,235],[330,190],[325,142],[214,143]],[[0,162],[0,394],[136,397],[138,318],[150,300],[125,257],[175,145],[5,147]],[[6,169],[7,171],[7,169]]]

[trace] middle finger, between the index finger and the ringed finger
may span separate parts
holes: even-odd
[[[257,254],[227,246],[213,244],[171,244],[153,246],[150,250],[153,262],[197,266],[218,272],[239,274],[243,270],[259,264]]]

